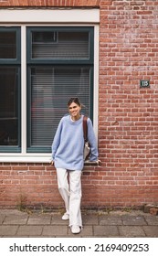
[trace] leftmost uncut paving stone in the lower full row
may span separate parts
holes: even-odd
[[[20,226],[17,230],[18,236],[39,236],[42,234],[42,226]]]

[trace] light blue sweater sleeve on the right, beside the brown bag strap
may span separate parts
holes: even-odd
[[[95,133],[94,133],[90,118],[88,118],[87,123],[88,123],[88,140],[90,143],[90,161],[97,161],[99,154],[98,154]]]

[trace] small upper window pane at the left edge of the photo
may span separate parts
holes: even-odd
[[[16,59],[16,31],[0,31],[0,59]]]

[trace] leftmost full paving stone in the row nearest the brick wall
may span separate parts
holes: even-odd
[[[7,224],[7,225],[12,225],[12,224],[25,225],[27,219],[28,219],[27,215],[18,216],[18,215],[15,215],[15,214],[14,215],[11,214],[11,215],[6,216],[3,224]]]

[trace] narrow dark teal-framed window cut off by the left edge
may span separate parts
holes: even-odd
[[[0,27],[0,152],[20,144],[20,29]]]

